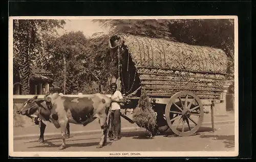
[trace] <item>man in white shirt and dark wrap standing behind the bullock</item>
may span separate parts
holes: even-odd
[[[116,90],[117,85],[115,83],[111,84],[111,91],[112,91],[112,96],[111,99],[111,130],[109,133],[109,138],[110,140],[117,141],[121,139],[121,116],[120,116],[120,102],[124,102],[124,99],[122,97],[122,94],[120,91]]]

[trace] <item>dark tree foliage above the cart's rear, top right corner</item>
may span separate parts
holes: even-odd
[[[234,52],[234,22],[232,19],[170,20],[168,28],[179,42],[223,49],[229,58]]]

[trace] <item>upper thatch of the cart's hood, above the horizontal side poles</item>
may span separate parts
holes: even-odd
[[[132,35],[121,37],[136,66],[222,73],[227,71],[227,56],[221,49]]]

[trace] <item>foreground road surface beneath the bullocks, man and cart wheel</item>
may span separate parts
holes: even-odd
[[[234,151],[235,137],[234,124],[218,124],[217,130],[211,132],[209,127],[201,126],[193,136],[178,137],[172,131],[168,131],[153,138],[147,138],[145,131],[122,132],[122,138],[119,141],[107,140],[107,145],[98,149],[100,136],[97,134],[87,134],[82,136],[71,136],[66,140],[67,148],[58,150],[61,144],[61,137],[45,139],[44,144],[39,144],[37,139],[24,139],[13,141],[13,151],[33,152],[44,156],[42,152],[80,152],[79,156],[87,156],[86,152],[134,152],[134,151],[197,151],[206,153],[215,151],[215,156],[221,151],[227,151],[225,154]],[[237,145],[237,144],[236,144]],[[237,146],[236,146],[237,147]],[[195,153],[195,152],[194,152]],[[56,154],[56,155],[57,155]],[[194,154],[195,155],[195,154]],[[62,156],[62,155],[61,155]]]

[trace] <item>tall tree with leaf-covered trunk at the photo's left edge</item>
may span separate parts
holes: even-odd
[[[13,57],[19,68],[22,94],[29,94],[29,77],[31,64],[35,60],[36,46],[41,43],[39,32],[56,32],[55,28],[63,28],[63,20],[13,20]]]

